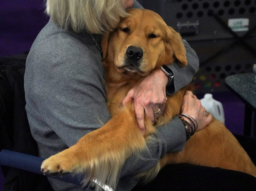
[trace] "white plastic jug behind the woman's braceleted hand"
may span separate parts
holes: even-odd
[[[221,102],[215,100],[211,93],[206,93],[204,98],[202,98],[200,101],[204,108],[209,111],[212,116],[225,124],[224,109]]]

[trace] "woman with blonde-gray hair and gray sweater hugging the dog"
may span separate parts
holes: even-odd
[[[48,158],[74,145],[84,134],[100,128],[99,121],[106,123],[111,118],[105,103],[100,35],[115,29],[120,18],[127,16],[125,9],[131,6],[142,9],[135,0],[47,0],[50,20],[32,45],[24,76],[26,111],[40,157]],[[186,41],[184,45],[188,66],[168,66],[174,81],[169,81],[170,77],[159,69],[134,87],[124,100],[125,103],[134,98],[142,133],[144,113],[154,122],[154,111],[164,109],[166,93],[174,94],[189,84],[198,70],[195,52]],[[202,111],[200,101],[188,93],[183,113],[194,116],[201,128],[212,117]],[[180,119],[176,117],[157,130],[157,138],[164,141],[147,145],[149,152],[143,153],[143,158],[149,160],[133,156],[125,162],[117,191],[130,191],[139,182],[134,174],[152,168],[166,152],[183,149],[186,132]],[[55,191],[83,190],[57,179],[49,178],[49,182]]]

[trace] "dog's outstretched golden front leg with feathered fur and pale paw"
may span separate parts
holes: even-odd
[[[42,171],[47,174],[85,172],[85,182],[96,178],[115,186],[125,159],[145,148],[131,103],[128,108],[120,109],[104,126],[83,136],[76,145],[46,159]]]

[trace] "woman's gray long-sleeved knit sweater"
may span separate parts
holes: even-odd
[[[94,38],[100,44],[100,35]],[[189,84],[199,66],[195,52],[183,42],[188,66],[170,66],[175,76],[170,92],[174,93]],[[104,76],[101,54],[88,33],[76,34],[52,21],[47,23],[32,45],[24,76],[26,112],[40,157],[47,158],[76,144],[102,126],[99,119],[106,123],[111,118],[105,102]],[[148,145],[150,152],[143,153],[148,160],[130,157],[125,162],[117,191],[130,191],[139,181],[134,174],[152,168],[166,152],[182,150],[186,142],[184,126],[177,117],[159,127],[156,136],[163,141]],[[57,179],[49,181],[55,191],[82,190]]]

